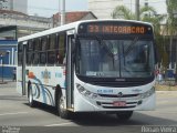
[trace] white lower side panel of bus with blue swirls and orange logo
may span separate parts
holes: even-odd
[[[33,100],[55,105],[55,86],[65,88],[65,70],[62,66],[27,66],[27,82],[31,82]]]

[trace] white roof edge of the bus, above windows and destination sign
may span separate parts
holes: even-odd
[[[58,33],[58,32],[62,32],[62,31],[67,31],[67,30],[75,30],[75,32],[77,32],[77,25],[81,24],[81,23],[85,23],[85,22],[105,22],[105,21],[107,21],[107,22],[108,21],[136,22],[136,23],[144,23],[144,24],[152,25],[148,22],[136,21],[136,20],[124,20],[124,19],[82,20],[82,21],[72,22],[72,23],[69,23],[69,24],[60,25],[60,27],[56,27],[56,28],[52,28],[52,29],[49,29],[49,30],[44,30],[44,31],[34,33],[34,34],[30,34],[30,35],[27,35],[27,37],[19,38],[18,42],[28,41],[28,40],[31,40],[31,39],[49,35],[49,34]]]

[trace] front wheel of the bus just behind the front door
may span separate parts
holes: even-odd
[[[71,112],[66,111],[64,108],[64,98],[62,93],[59,94],[58,99],[58,112],[62,119],[70,119]]]

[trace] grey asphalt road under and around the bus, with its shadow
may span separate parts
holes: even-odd
[[[157,92],[155,111],[134,112],[127,122],[118,121],[116,115],[101,113],[82,113],[73,120],[63,120],[56,111],[43,104],[31,109],[27,98],[15,92],[15,83],[0,84],[0,132],[6,129],[20,133],[32,132],[142,132],[143,126],[171,126],[177,129],[177,91]],[[8,130],[9,130],[8,129]],[[177,130],[176,130],[177,132]]]

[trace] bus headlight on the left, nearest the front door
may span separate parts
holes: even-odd
[[[76,83],[76,89],[79,90],[79,92],[86,96],[86,98],[92,98],[92,99],[96,99],[97,98],[97,94],[96,93],[93,93],[88,90],[86,90],[84,86],[82,86],[81,84]]]

